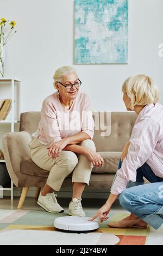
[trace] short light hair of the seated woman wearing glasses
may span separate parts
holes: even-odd
[[[56,82],[61,82],[62,77],[66,76],[67,74],[70,74],[70,73],[77,75],[76,69],[74,69],[72,66],[61,66],[59,69],[57,69],[55,71],[54,76],[53,76],[54,88],[57,89],[56,86],[55,86]]]

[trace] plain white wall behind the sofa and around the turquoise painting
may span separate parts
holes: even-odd
[[[22,112],[40,111],[53,93],[53,74],[73,65],[73,0],[1,0],[1,16],[16,20],[6,48],[5,76],[22,80]],[[93,110],[125,111],[121,86],[130,75],[152,76],[163,93],[163,1],[129,1],[129,64],[74,65]]]

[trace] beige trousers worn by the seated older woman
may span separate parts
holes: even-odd
[[[79,145],[96,151],[96,147],[91,139],[85,139]],[[59,191],[64,179],[72,173],[72,182],[82,182],[89,185],[92,163],[86,156],[75,154],[72,151],[61,150],[57,159],[48,156],[48,146],[33,138],[28,144],[32,161],[42,169],[49,171],[47,185],[55,191]]]

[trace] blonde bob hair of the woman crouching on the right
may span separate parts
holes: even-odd
[[[136,75],[127,78],[123,83],[122,92],[127,93],[131,99],[129,108],[134,110],[134,106],[145,106],[149,103],[156,103],[159,100],[159,90],[151,77],[146,75]]]

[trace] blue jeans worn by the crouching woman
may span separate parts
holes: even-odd
[[[121,161],[118,169],[121,168]],[[150,184],[144,185],[143,177]],[[156,176],[147,163],[137,169],[136,181],[120,194],[120,204],[137,217],[158,229],[163,223],[163,179]]]

